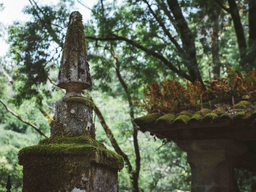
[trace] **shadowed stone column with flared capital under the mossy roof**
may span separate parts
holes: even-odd
[[[233,140],[179,141],[187,152],[192,192],[233,192],[236,156],[246,147]]]

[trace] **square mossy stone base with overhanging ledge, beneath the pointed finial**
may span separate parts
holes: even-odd
[[[20,150],[22,192],[117,192],[123,158],[86,136],[55,137]]]

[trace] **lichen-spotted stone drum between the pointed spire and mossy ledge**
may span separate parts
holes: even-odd
[[[89,102],[82,96],[56,101],[54,103],[54,120],[51,122],[51,136],[88,134],[95,138],[92,117],[94,106]]]

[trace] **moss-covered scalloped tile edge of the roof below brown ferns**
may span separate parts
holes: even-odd
[[[153,126],[156,124],[164,123],[173,125],[176,123],[189,124],[190,122],[213,122],[221,120],[238,120],[238,119],[256,119],[256,102],[251,104],[248,101],[240,101],[234,105],[233,109],[225,109],[220,106],[214,110],[202,108],[199,111],[186,110],[178,114],[160,114],[153,113],[140,118],[134,119],[138,126]]]

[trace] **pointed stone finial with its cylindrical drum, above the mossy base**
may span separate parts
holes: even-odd
[[[82,89],[92,86],[87,62],[82,15],[72,12],[63,47],[57,86],[66,89],[66,95],[54,103],[51,136],[89,135],[95,138],[92,111],[94,104],[82,96]]]

